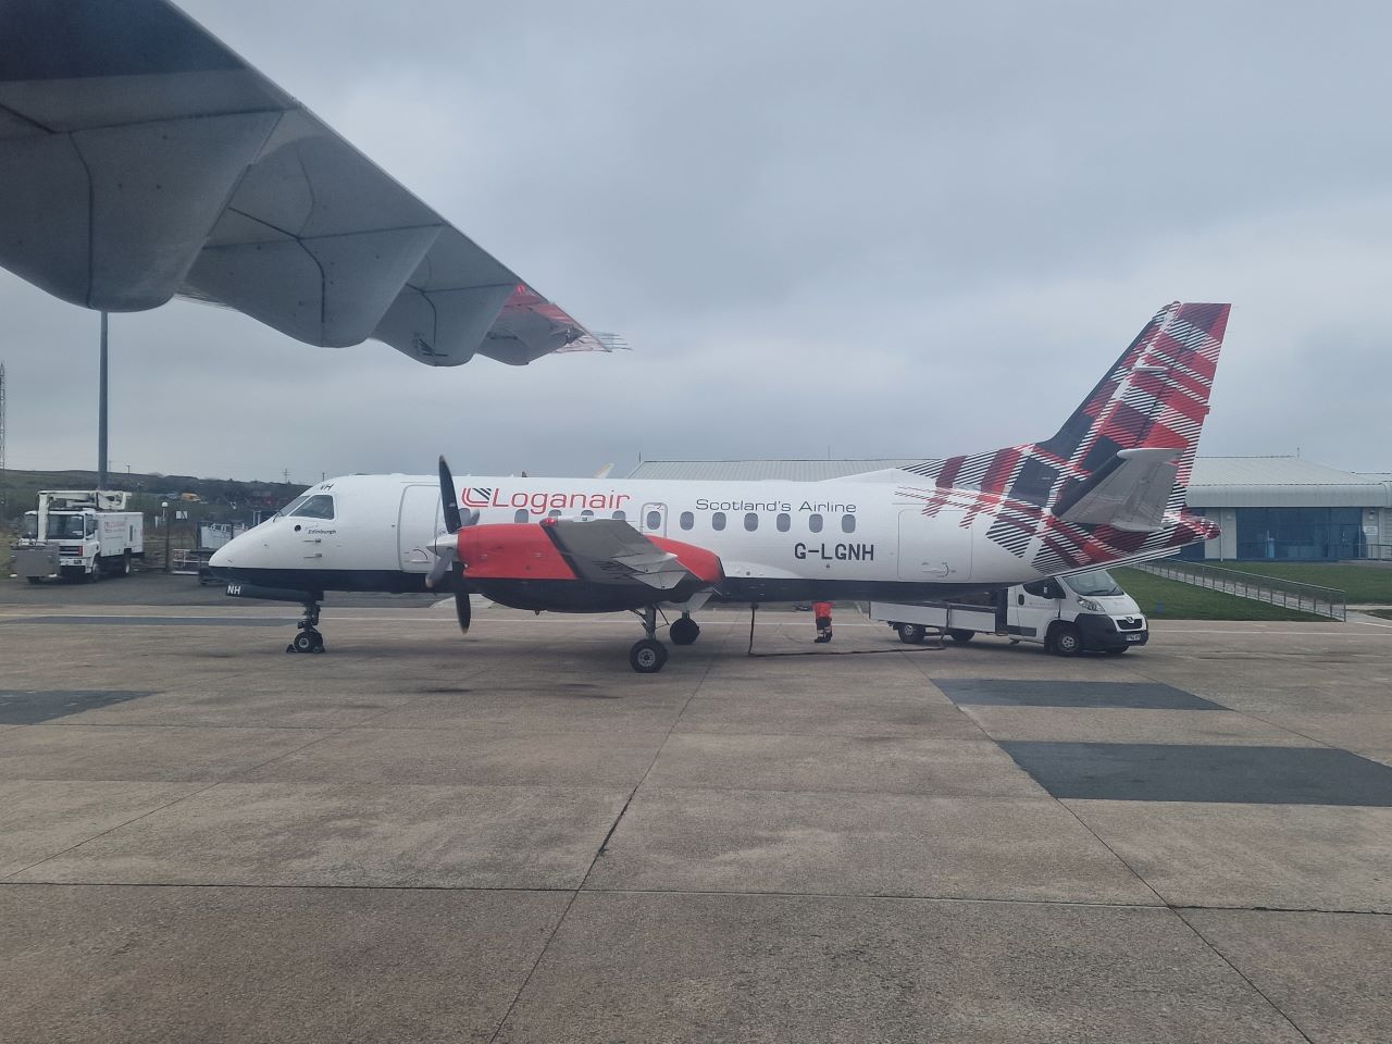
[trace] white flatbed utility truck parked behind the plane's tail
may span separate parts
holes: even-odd
[[[870,619],[888,624],[899,639],[917,644],[930,629],[955,642],[999,635],[1031,642],[1059,656],[1100,651],[1118,656],[1150,638],[1146,617],[1107,569],[1050,576],[1002,587],[976,603],[934,601],[901,606],[870,603]]]

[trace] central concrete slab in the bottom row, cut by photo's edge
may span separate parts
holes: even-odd
[[[1168,910],[585,892],[498,1040],[1303,1037]]]

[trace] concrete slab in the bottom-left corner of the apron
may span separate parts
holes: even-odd
[[[0,888],[7,1044],[489,1040],[568,894]]]

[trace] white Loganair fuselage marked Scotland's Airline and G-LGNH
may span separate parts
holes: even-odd
[[[903,476],[912,482],[913,476]],[[924,514],[923,497],[894,477],[832,482],[622,479],[457,479],[477,525],[546,518],[624,518],[644,536],[717,554],[722,600],[892,594],[889,587],[970,589],[1040,574],[984,539],[992,515]],[[922,493],[922,490],[920,490]],[[445,532],[430,475],[333,479],[306,497],[331,497],[331,518],[294,507],[238,536],[213,558],[231,579],[309,590],[419,590]],[[903,593],[903,592],[901,592]]]

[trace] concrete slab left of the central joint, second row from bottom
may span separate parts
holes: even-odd
[[[220,784],[15,880],[576,888],[626,795],[625,786]]]

